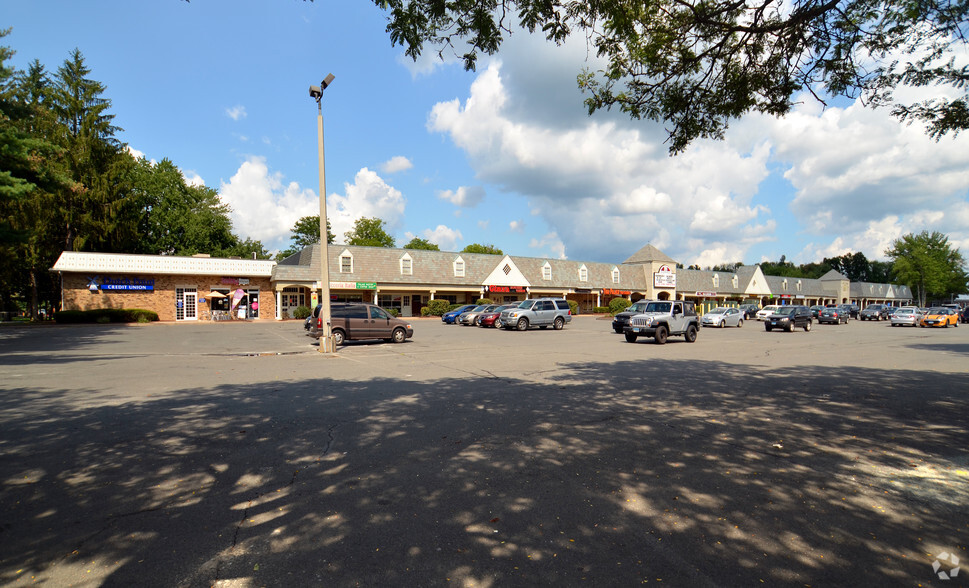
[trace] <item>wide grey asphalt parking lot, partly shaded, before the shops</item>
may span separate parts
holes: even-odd
[[[0,326],[0,584],[967,582],[966,325],[414,328]]]

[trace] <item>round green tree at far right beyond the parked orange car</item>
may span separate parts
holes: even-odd
[[[912,288],[919,306],[925,306],[930,296],[944,298],[967,291],[966,260],[938,231],[895,239],[885,255],[892,258],[895,276]]]

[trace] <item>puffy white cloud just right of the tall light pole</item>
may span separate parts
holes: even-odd
[[[362,168],[353,184],[343,184],[344,194],[330,194],[326,215],[338,243],[359,218],[379,218],[391,235],[400,228],[407,201],[400,190],[388,185],[379,175]]]

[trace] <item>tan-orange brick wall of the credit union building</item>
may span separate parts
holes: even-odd
[[[91,276],[93,277],[93,276]],[[199,298],[206,302],[198,304],[198,320],[209,320],[209,292],[212,288],[259,289],[259,320],[276,318],[276,293],[269,278],[250,278],[248,286],[222,284],[222,276],[134,276],[130,274],[98,274],[99,278],[150,278],[155,279],[153,291],[111,291],[88,289],[89,276],[67,274],[63,276],[64,310],[92,310],[95,308],[142,308],[158,313],[159,320],[175,320],[175,288],[195,287]]]

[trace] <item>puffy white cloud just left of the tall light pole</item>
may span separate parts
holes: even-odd
[[[285,246],[290,229],[304,216],[319,214],[319,197],[283,175],[270,172],[263,157],[249,157],[219,195],[232,209],[233,229],[242,237],[262,241],[268,249]]]

